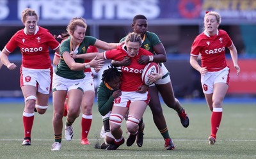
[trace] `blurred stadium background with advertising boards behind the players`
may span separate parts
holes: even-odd
[[[255,0],[0,0],[1,50],[13,34],[24,27],[20,21],[24,8],[36,10],[40,17],[38,25],[57,35],[66,31],[70,19],[83,17],[88,24],[86,34],[106,42],[119,42],[132,31],[134,15],[145,15],[148,31],[156,33],[166,49],[166,66],[178,98],[203,96],[200,75],[189,64],[189,52],[194,38],[204,29],[205,11],[218,11],[222,17],[220,29],[225,29],[236,45],[241,67],[241,75],[237,77],[227,50],[231,68],[227,96],[256,96]],[[19,66],[19,49],[9,59]],[[1,98],[22,96],[19,68],[10,71],[3,66],[0,75]],[[95,87],[100,79],[100,73],[95,74]]]

